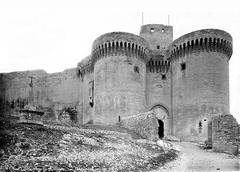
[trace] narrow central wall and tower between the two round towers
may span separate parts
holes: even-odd
[[[173,134],[171,113],[171,73],[168,47],[173,41],[172,26],[148,24],[141,27],[140,36],[149,43],[147,62],[147,109],[157,111],[165,122],[164,133]]]

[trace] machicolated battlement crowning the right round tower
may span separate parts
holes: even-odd
[[[171,59],[200,51],[221,52],[230,59],[232,55],[232,37],[218,29],[198,30],[176,39],[170,45]]]

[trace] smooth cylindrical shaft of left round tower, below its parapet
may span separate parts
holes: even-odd
[[[134,71],[134,68],[138,71]],[[114,124],[118,118],[145,110],[146,63],[137,58],[114,56],[94,67],[96,122]]]

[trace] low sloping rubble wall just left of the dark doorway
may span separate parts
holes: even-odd
[[[144,139],[158,140],[158,122],[153,111],[121,119],[120,125],[140,134]]]

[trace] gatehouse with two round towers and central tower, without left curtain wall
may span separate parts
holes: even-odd
[[[154,110],[165,135],[201,140],[211,117],[229,113],[231,55],[231,35],[217,29],[176,40],[161,24],[143,25],[139,36],[104,34],[78,64],[83,122],[116,124]]]

